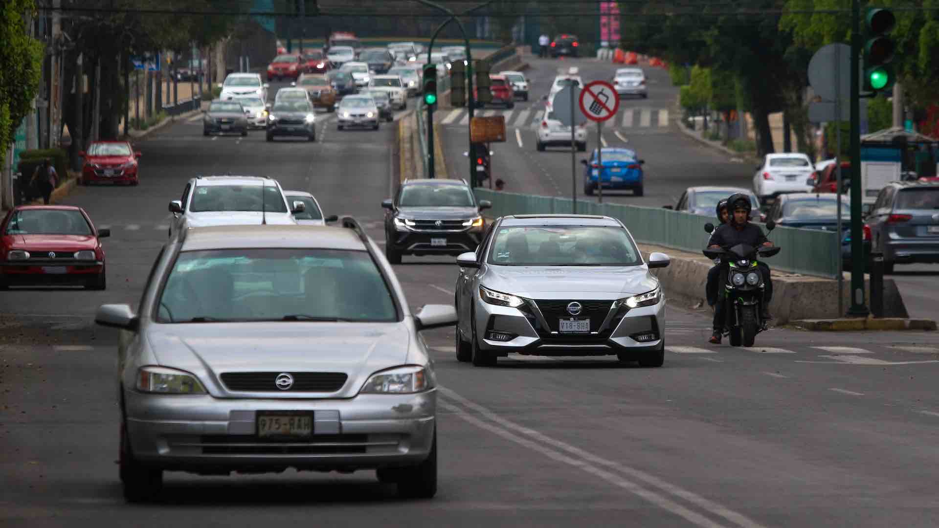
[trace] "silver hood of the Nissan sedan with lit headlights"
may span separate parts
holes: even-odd
[[[529,299],[612,300],[645,293],[658,279],[642,266],[491,266],[480,284]]]

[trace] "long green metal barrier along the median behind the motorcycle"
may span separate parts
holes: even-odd
[[[475,193],[477,199],[492,202],[490,214],[493,217],[509,214],[570,213],[573,209],[570,198],[505,193],[481,187],[476,188]],[[708,222],[716,224],[716,218],[713,216],[662,208],[598,204],[593,200],[577,200],[577,213],[617,218],[629,228],[636,241],[699,255],[709,236],[704,231],[704,225]],[[765,227],[763,231],[765,232]],[[838,276],[838,259],[841,253],[837,245],[838,234],[834,231],[777,227],[770,239],[782,247],[777,256],[766,259],[772,269],[825,278]]]

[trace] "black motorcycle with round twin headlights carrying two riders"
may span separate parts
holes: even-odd
[[[766,223],[766,230],[772,231],[776,223]],[[714,231],[714,225],[704,225],[708,233]],[[752,347],[756,335],[767,330],[762,320],[763,289],[765,285],[762,273],[757,268],[757,256],[774,256],[782,249],[777,246],[753,247],[749,244],[737,244],[727,249],[704,249],[704,256],[710,259],[720,258],[724,266],[723,274],[727,281],[724,285],[724,335],[730,335],[731,347]]]

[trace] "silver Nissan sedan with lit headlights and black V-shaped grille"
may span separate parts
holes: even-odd
[[[459,361],[495,365],[513,352],[664,362],[665,296],[650,269],[669,256],[644,262],[615,218],[504,216],[456,263]]]

